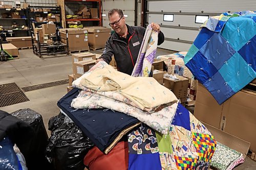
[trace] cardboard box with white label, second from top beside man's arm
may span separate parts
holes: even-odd
[[[73,63],[73,74],[82,76],[95,65],[96,60],[84,60]]]

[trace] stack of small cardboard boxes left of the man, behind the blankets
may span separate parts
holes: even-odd
[[[81,77],[84,72],[91,69],[96,62],[96,54],[93,53],[79,53],[72,55],[73,74],[69,75],[69,86],[67,91],[72,89],[72,82]]]

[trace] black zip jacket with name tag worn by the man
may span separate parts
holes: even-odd
[[[102,58],[106,63],[110,63],[114,55],[117,69],[128,75],[133,72],[134,65],[136,64],[140,46],[145,34],[146,29],[143,27],[127,26],[128,32],[132,35],[129,38],[128,44],[118,39],[118,34],[115,32],[106,41]],[[158,45],[163,43],[164,35],[162,32],[158,34]]]

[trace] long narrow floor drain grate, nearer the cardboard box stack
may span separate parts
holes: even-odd
[[[63,84],[68,84],[68,83],[69,83],[68,79],[67,80],[60,80],[60,81],[55,81],[55,82],[50,82],[50,83],[38,84],[38,85],[33,85],[33,86],[28,86],[28,87],[22,87],[22,90],[25,91],[25,92],[34,91],[34,90],[59,86],[59,85],[63,85]]]

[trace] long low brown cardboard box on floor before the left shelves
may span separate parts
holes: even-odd
[[[7,37],[6,40],[17,48],[32,47],[31,37]]]

